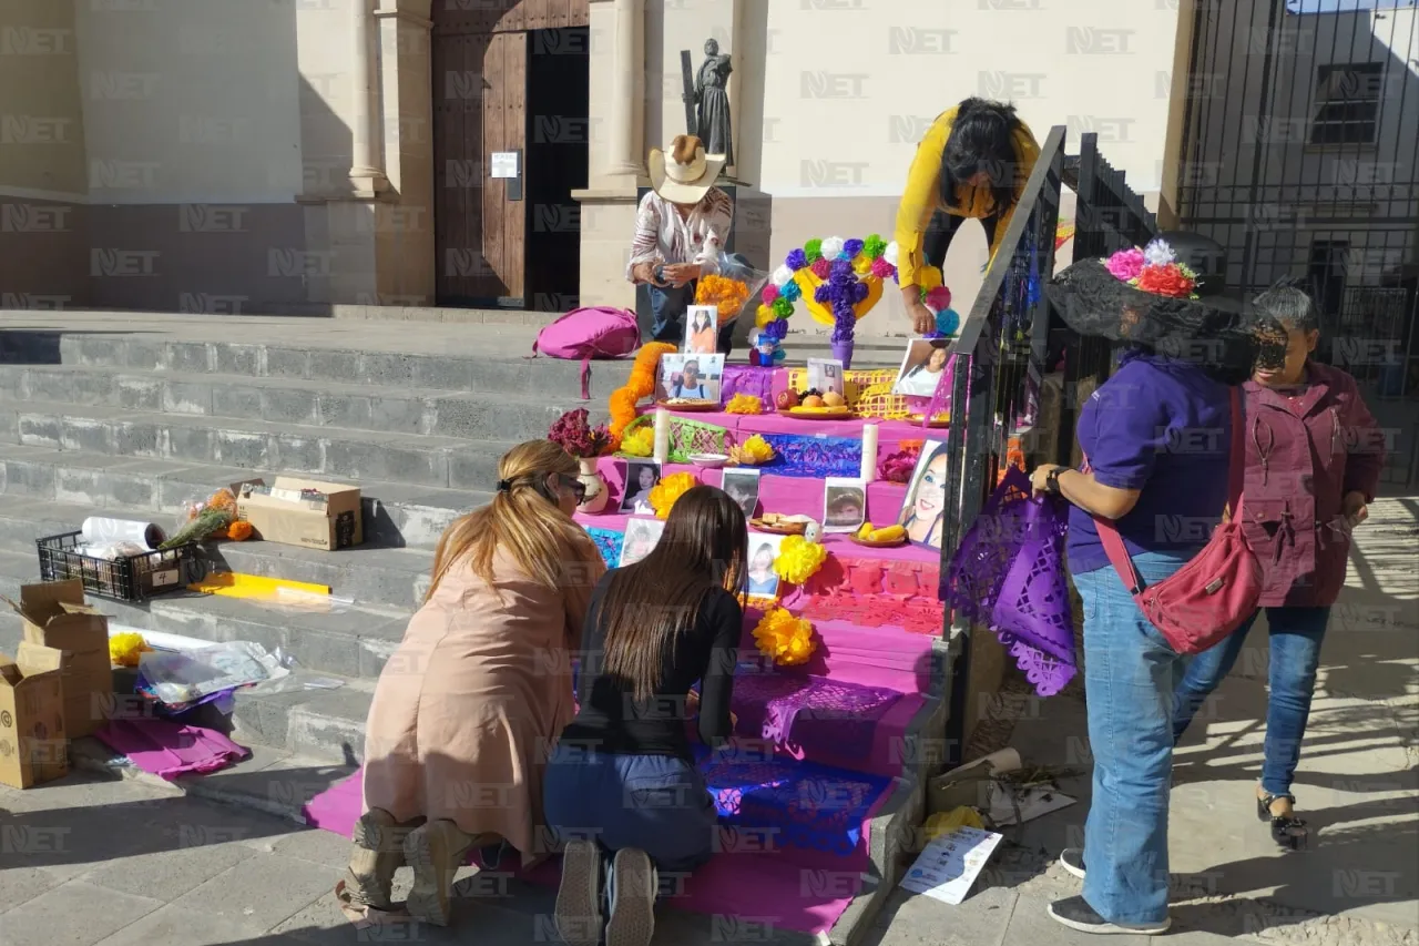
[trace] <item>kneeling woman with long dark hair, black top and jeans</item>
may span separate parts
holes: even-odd
[[[597,584],[587,608],[580,709],[546,767],[546,824],[566,845],[556,925],[569,946],[648,946],[657,871],[688,874],[714,849],[714,800],[685,733],[700,683],[700,739],[734,723],[749,534],[724,490],[675,501],[643,561]],[[610,861],[604,891],[603,864]]]

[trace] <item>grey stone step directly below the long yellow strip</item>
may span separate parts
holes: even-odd
[[[20,587],[40,580],[34,553],[0,550],[0,595],[16,598]],[[254,601],[199,595],[189,591],[159,595],[140,604],[89,597],[115,624],[142,631],[180,634],[226,643],[250,641],[267,651],[282,648],[302,672],[373,680],[404,636],[409,609],[356,599],[331,614],[277,608]],[[14,653],[20,618],[0,608],[0,653]]]

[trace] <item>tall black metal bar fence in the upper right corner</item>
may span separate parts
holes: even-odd
[[[1415,4],[1198,3],[1192,27],[1182,226],[1247,293],[1307,286],[1371,398],[1419,399]]]

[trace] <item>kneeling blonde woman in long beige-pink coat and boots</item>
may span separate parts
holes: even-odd
[[[491,504],[444,533],[433,585],[375,687],[365,733],[365,814],[336,888],[359,925],[393,910],[448,923],[448,888],[475,847],[542,854],[542,770],[572,720],[570,656],[600,553],[572,520],[585,487],[548,440],[498,464]]]

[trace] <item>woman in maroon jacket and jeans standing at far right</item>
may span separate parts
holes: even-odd
[[[1270,632],[1266,749],[1256,788],[1257,817],[1288,848],[1305,847],[1291,778],[1315,689],[1321,639],[1345,585],[1349,533],[1375,499],[1385,462],[1384,433],[1355,379],[1315,364],[1315,304],[1298,288],[1256,300],[1287,335],[1284,364],[1260,366],[1246,391],[1246,482],[1242,518],[1264,572],[1260,608]],[[1178,686],[1174,737],[1232,669],[1260,608],[1236,632],[1199,653]]]

